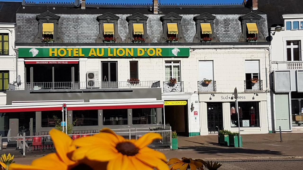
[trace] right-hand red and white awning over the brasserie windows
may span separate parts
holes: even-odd
[[[164,100],[142,99],[114,99],[114,100],[90,100],[79,104],[67,104],[67,110],[101,110],[101,109],[139,109],[162,108]]]

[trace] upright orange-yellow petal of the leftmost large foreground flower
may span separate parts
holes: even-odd
[[[62,161],[65,162],[67,165],[75,164],[74,161],[70,160],[67,157],[67,153],[75,149],[71,149],[72,139],[68,135],[57,129],[50,130],[49,134],[56,148],[56,152],[58,156],[62,159]]]

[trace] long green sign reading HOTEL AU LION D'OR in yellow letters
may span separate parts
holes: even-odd
[[[18,57],[189,57],[189,48],[19,48]]]

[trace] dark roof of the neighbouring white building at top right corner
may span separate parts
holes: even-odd
[[[283,14],[303,14],[300,0],[261,0],[258,9],[267,13],[268,27],[284,26]]]

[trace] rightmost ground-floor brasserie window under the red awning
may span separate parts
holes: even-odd
[[[142,108],[132,110],[132,124],[156,124],[156,109],[157,108]]]

